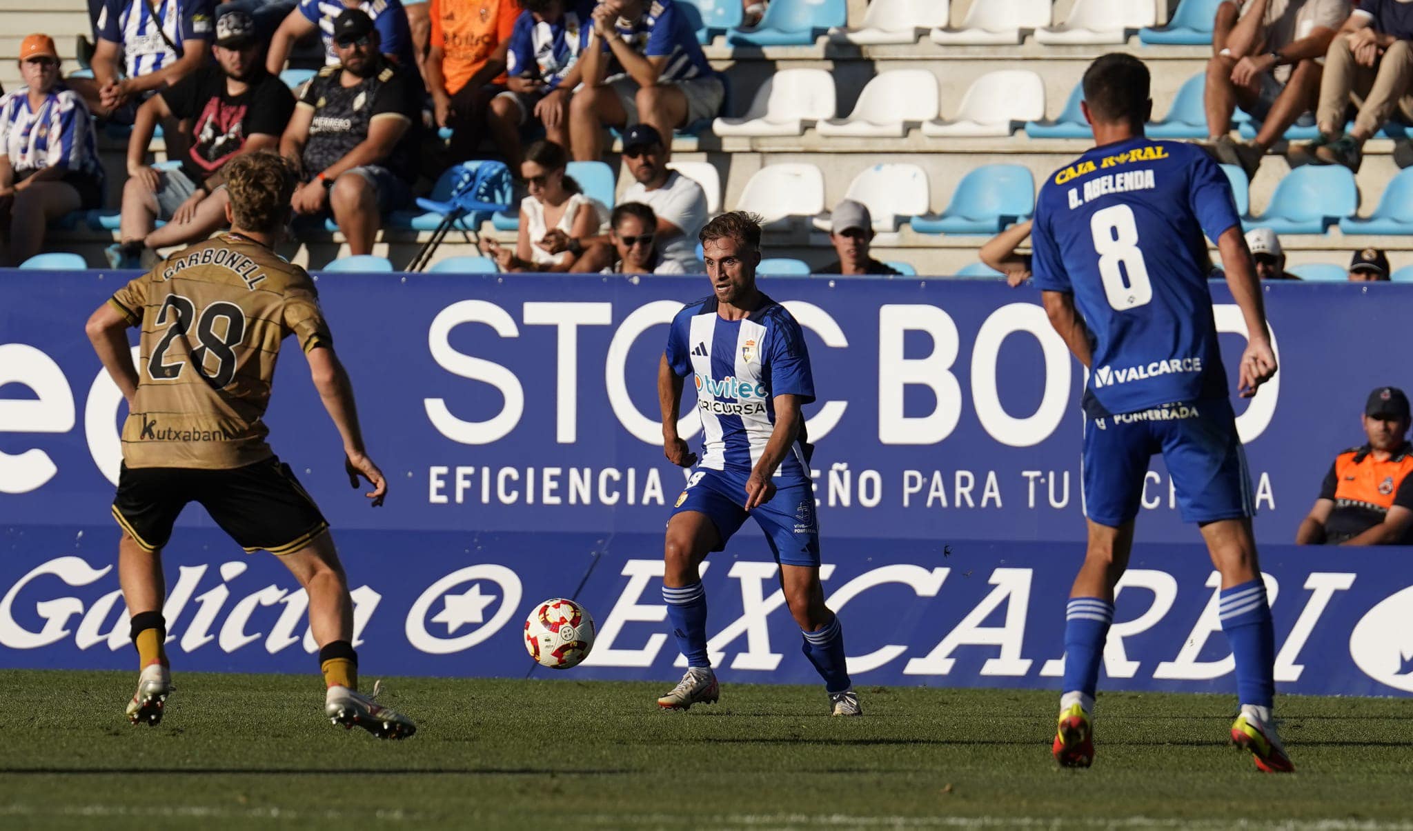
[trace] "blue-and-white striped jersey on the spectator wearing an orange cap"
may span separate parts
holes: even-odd
[[[62,83],[54,86],[37,112],[30,110],[24,86],[0,98],[0,153],[18,175],[59,167],[103,181],[93,124],[83,99]]]

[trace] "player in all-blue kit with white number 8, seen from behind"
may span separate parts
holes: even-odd
[[[1241,396],[1276,373],[1276,358],[1226,175],[1195,146],[1146,138],[1152,109],[1142,61],[1111,54],[1091,64],[1084,113],[1096,147],[1046,181],[1031,229],[1046,312],[1091,370],[1081,471],[1089,544],[1065,613],[1053,752],[1068,767],[1094,760],[1091,714],[1113,587],[1128,565],[1149,456],[1161,452],[1183,519],[1201,527],[1222,578],[1221,623],[1241,697],[1232,739],[1260,770],[1293,770],[1270,715],[1275,636],[1204,235],[1221,252],[1246,324]]]

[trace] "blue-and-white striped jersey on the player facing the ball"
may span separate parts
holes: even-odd
[[[694,379],[702,420],[698,468],[749,475],[776,425],[774,397],[814,401],[814,375],[804,334],[783,305],[764,298],[745,319],[716,314],[716,298],[688,304],[673,318],[667,363],[678,377]],[[776,472],[779,488],[810,482],[811,447],[804,435]]]

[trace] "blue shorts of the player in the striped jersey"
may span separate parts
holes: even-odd
[[[698,468],[677,497],[673,516],[687,510],[706,514],[721,536],[721,546],[714,551],[725,548],[746,517],[753,516],[766,533],[776,562],[818,567],[820,526],[814,516],[814,489],[808,483],[779,488],[770,502],[747,513],[742,507],[746,503],[747,476],[749,473]]]

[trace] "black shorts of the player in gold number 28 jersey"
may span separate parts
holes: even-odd
[[[290,465],[274,456],[226,471],[123,465],[113,517],[140,547],[157,551],[188,502],[199,502],[246,551],[291,554],[329,529]]]

